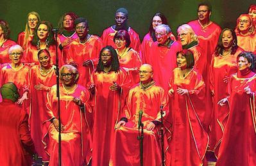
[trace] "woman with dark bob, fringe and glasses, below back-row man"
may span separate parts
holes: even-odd
[[[127,31],[119,30],[114,36],[116,52],[119,57],[119,64],[123,68],[128,68],[132,84],[139,82],[139,67],[141,66],[141,58],[137,51],[129,47],[131,40]]]

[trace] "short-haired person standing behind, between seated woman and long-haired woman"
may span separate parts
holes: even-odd
[[[78,84],[87,86],[90,74],[98,64],[99,52],[103,47],[101,38],[94,34],[88,34],[89,26],[85,18],[74,21],[76,38],[69,46],[67,63],[75,66],[80,72]]]

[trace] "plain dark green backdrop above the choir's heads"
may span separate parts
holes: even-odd
[[[57,26],[58,19],[67,11],[74,11],[80,17],[89,20],[90,33],[101,36],[103,29],[114,24],[114,13],[119,7],[129,11],[129,24],[140,34],[141,39],[148,32],[149,22],[154,13],[160,11],[166,15],[172,31],[189,20],[196,19],[197,4],[195,0],[0,0],[0,19],[7,20],[11,28],[11,38],[24,31],[26,15],[37,11],[41,20],[49,20]],[[221,27],[234,28],[235,20],[241,13],[247,13],[255,0],[215,0],[212,4],[211,19]]]

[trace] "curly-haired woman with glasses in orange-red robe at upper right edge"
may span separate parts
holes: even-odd
[[[250,15],[242,14],[237,18],[235,27],[237,45],[246,51],[256,52],[256,33],[253,28],[253,20]]]

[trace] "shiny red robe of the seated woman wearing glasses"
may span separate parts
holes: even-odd
[[[73,98],[80,98],[85,103],[85,110],[80,109]],[[91,134],[87,122],[87,114],[91,112],[89,98],[89,91],[79,84],[73,91],[67,91],[60,84],[60,116],[64,125],[62,165],[88,165],[91,160]],[[58,132],[50,121],[53,117],[58,118],[57,102],[55,85],[47,93],[47,118],[43,123],[43,142],[49,154],[49,165],[58,165]]]

